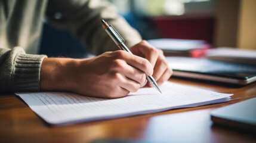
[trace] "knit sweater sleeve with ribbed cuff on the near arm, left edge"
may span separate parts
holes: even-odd
[[[40,68],[45,57],[26,54],[20,47],[0,48],[0,92],[40,91]]]

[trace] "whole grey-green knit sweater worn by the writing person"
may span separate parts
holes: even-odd
[[[128,47],[141,41],[138,32],[98,0],[0,0],[0,92],[40,91],[40,68],[47,55],[37,55],[42,23],[70,30],[93,54],[115,51],[101,27],[112,24]]]

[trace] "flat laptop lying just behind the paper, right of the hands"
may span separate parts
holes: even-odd
[[[231,63],[208,58],[166,57],[172,76],[247,85],[256,81],[255,64]]]

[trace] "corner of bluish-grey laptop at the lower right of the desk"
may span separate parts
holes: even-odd
[[[211,111],[211,120],[220,125],[256,132],[256,98]]]

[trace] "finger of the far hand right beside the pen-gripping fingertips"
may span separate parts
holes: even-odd
[[[165,72],[165,70],[168,68],[168,64],[165,61],[165,59],[163,59],[162,56],[159,56],[158,61],[156,62],[156,66],[154,68],[154,73],[153,73],[153,77],[155,78],[156,82],[158,81],[158,79],[160,79],[160,77],[162,76],[162,74]]]

